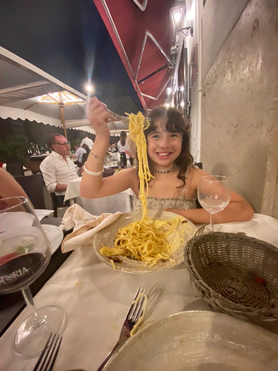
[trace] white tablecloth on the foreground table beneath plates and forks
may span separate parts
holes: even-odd
[[[268,216],[255,214],[251,221],[218,224],[215,229],[264,237],[278,247],[278,220]],[[97,370],[118,340],[139,285],[150,290],[145,323],[181,311],[209,310],[195,295],[183,264],[157,273],[128,274],[100,262],[93,249],[75,250],[34,298],[39,308],[60,305],[67,315],[54,371]],[[25,308],[0,338],[1,371],[30,371],[36,363],[36,359],[16,356],[11,346],[17,327],[28,314]],[[278,334],[277,322],[264,327]]]

